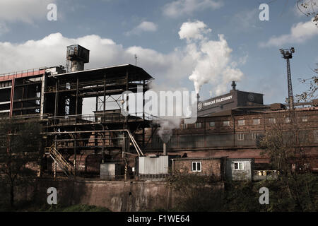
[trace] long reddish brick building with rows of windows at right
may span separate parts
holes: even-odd
[[[220,98],[213,98],[216,99]],[[264,152],[261,138],[273,129],[281,131],[282,134],[288,133],[293,126],[298,130],[299,139],[302,141],[301,148],[306,153],[307,165],[318,172],[317,100],[311,102],[308,107],[295,108],[295,117],[290,115],[293,113],[282,104],[261,105],[262,100],[258,102],[259,104],[254,106],[245,105],[211,112],[204,117],[198,117],[195,124],[180,124],[167,143],[168,153],[201,159],[224,156],[254,159],[255,171],[269,170],[269,157],[261,155]],[[148,129],[148,134],[149,131],[152,133],[153,129]],[[160,137],[153,135],[148,138],[151,138],[151,142],[148,143],[147,153],[161,153],[163,142]]]

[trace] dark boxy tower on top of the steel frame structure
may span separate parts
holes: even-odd
[[[79,44],[67,47],[66,72],[83,71],[84,64],[90,59],[90,51]]]

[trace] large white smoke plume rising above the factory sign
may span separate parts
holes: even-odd
[[[236,62],[231,61],[232,49],[224,35],[218,35],[218,40],[208,40],[206,35],[210,32],[205,23],[196,20],[183,23],[179,37],[187,40],[187,52],[195,61],[189,79],[193,81],[196,93],[202,85],[210,83],[212,92],[220,95],[226,91],[230,81],[240,81],[243,73],[236,68]]]

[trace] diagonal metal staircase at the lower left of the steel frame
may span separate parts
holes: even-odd
[[[52,145],[51,147],[46,147],[45,154],[52,157],[54,162],[59,165],[59,167],[63,170],[64,174],[66,174],[67,177],[73,176],[74,167],[64,159],[63,155],[61,155],[59,151],[54,148],[54,145]]]

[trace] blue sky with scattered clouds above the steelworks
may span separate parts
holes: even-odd
[[[271,2],[269,21],[261,21],[259,5],[266,2]],[[57,5],[57,21],[47,20],[50,3]],[[0,15],[0,73],[65,65],[66,45],[78,42],[91,51],[86,69],[134,64],[137,54],[138,66],[155,78],[158,88],[194,90],[189,76],[197,71],[207,77],[211,69],[211,79],[201,86],[202,99],[226,93],[230,78],[237,78],[237,89],[264,93],[269,104],[288,96],[278,49],[295,47],[294,94],[306,88],[298,78],[312,76],[318,63],[318,28],[297,11],[295,1],[1,0]],[[190,30],[184,26],[182,38],[184,23]],[[199,30],[191,30],[195,27]],[[219,34],[226,42],[221,49]],[[206,54],[219,50],[220,56],[228,54],[218,58],[227,64],[204,68],[206,62],[218,61]],[[228,69],[235,71],[225,79]],[[219,70],[216,75],[214,70]]]

